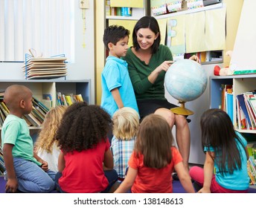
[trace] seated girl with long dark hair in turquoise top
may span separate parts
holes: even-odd
[[[237,131],[228,114],[208,109],[202,114],[202,150],[205,165],[189,173],[199,193],[246,193],[249,189],[246,139]],[[214,172],[215,169],[215,172]]]

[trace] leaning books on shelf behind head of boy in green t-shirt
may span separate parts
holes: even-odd
[[[28,126],[42,126],[42,122],[45,120],[45,115],[49,109],[45,107],[41,102],[33,98],[33,106],[30,114],[24,115],[22,118],[26,121]],[[0,127],[4,123],[5,118],[10,113],[4,100],[0,99]]]

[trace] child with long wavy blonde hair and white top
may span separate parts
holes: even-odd
[[[60,148],[57,146],[55,135],[66,108],[68,108],[66,105],[57,105],[48,111],[35,143],[35,152],[42,160],[48,162],[48,168],[54,172],[58,171],[58,157],[60,155]]]

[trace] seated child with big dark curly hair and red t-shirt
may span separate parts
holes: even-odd
[[[56,182],[60,192],[109,192],[118,180],[106,134],[109,114],[97,105],[74,103],[57,130],[60,156]]]

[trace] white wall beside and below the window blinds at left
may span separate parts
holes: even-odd
[[[79,0],[75,1],[75,62],[68,63],[68,76],[66,79],[91,79],[91,100],[92,103],[95,103],[95,2],[94,0],[89,0],[89,9],[86,9],[86,23],[84,23]],[[84,24],[86,24],[85,33],[83,33]],[[85,48],[83,48],[83,40],[86,45]],[[0,79],[24,79],[22,65],[24,65],[22,62],[0,62]]]

